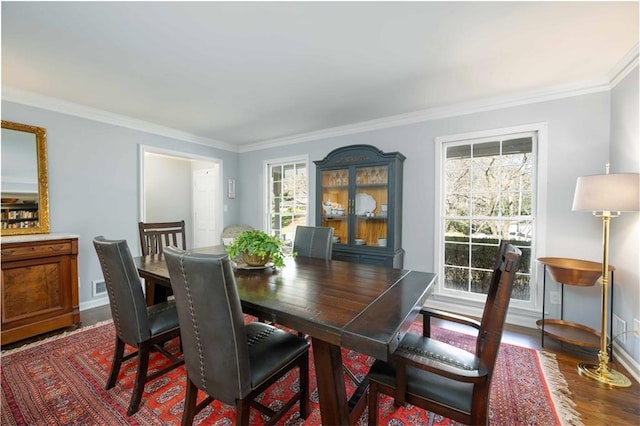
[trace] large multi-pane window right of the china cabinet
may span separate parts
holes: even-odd
[[[537,136],[531,131],[441,141],[441,293],[484,297],[499,243],[506,239],[522,250],[512,300],[535,303]]]

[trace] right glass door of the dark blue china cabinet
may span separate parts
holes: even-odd
[[[355,245],[387,246],[388,169],[386,165],[355,168]]]

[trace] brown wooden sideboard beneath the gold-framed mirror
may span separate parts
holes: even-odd
[[[1,343],[80,325],[77,236],[9,236],[1,244]]]

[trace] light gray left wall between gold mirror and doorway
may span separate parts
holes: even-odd
[[[237,153],[8,101],[2,101],[2,119],[47,129],[51,232],[79,235],[81,309],[94,302],[92,280],[102,279],[94,236],[126,239],[131,252],[140,253],[139,145],[219,158],[224,179],[237,179]],[[223,222],[235,223],[237,202],[225,203]]]

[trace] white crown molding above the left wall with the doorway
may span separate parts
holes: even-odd
[[[26,90],[17,89],[10,86],[2,86],[2,100],[42,108],[50,111],[68,114],[75,117],[86,118],[114,126],[125,127],[127,129],[139,130],[159,136],[166,136],[185,142],[191,142],[207,147],[224,149],[226,151],[238,152],[238,147],[215,139],[197,136],[191,133],[176,130],[170,127],[160,126],[148,121],[138,120],[125,115],[114,114],[97,108],[88,107],[74,102],[65,101],[58,98],[40,95]]]

